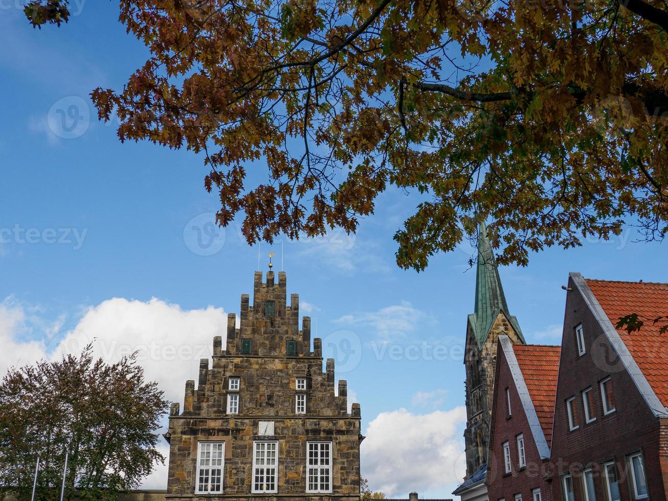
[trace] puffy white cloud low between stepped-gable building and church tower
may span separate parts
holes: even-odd
[[[406,409],[380,413],[361,445],[361,472],[387,496],[425,492],[464,478],[462,426],[466,407],[429,414]]]

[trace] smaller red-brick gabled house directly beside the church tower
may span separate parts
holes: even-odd
[[[550,444],[560,347],[499,336],[490,430],[490,500],[552,501]]]

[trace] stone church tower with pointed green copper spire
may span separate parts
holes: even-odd
[[[478,261],[476,263],[475,313],[468,315],[466,328],[466,478],[455,491],[459,493],[475,480],[484,484],[487,463],[487,448],[492,416],[492,393],[494,392],[494,368],[496,365],[496,339],[507,335],[512,343],[524,344],[524,337],[517,319],[510,315],[498,268],[487,236],[487,228],[481,223],[478,228]],[[475,477],[475,478],[474,478]],[[454,494],[455,494],[454,493]]]

